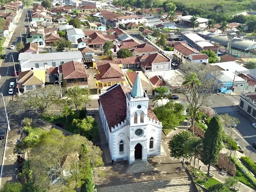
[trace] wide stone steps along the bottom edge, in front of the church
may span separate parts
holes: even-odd
[[[102,187],[98,192],[197,192],[192,180],[188,177],[170,178],[163,180],[150,180],[145,182],[133,182],[130,184]]]

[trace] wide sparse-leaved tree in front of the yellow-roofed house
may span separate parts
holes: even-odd
[[[15,100],[9,102],[12,112],[20,108],[32,108],[38,115],[43,115],[48,111],[48,107],[59,102],[61,87],[55,85],[45,85],[42,88],[32,89],[24,92]]]

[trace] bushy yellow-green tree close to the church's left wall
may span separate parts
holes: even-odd
[[[77,129],[74,130],[74,133],[85,136],[88,140],[96,138],[98,128],[95,118],[92,116],[86,116],[82,120],[74,118],[72,123],[77,127]]]

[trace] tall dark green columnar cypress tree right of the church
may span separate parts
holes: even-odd
[[[218,116],[213,116],[210,119],[208,128],[204,133],[203,138],[203,152],[202,152],[202,162],[208,165],[207,179],[210,173],[210,164],[216,163],[221,149],[222,143],[222,125]]]

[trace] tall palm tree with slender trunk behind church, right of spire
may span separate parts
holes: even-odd
[[[201,82],[197,78],[197,75],[195,72],[190,72],[185,76],[184,81],[182,82],[182,85],[187,86],[188,90],[191,90],[190,93],[190,101],[189,101],[189,109],[188,109],[188,118],[187,118],[187,124],[186,124],[186,130],[188,129],[188,123],[190,119],[190,110],[191,110],[191,102],[192,102],[192,94],[193,94],[193,88],[196,86],[200,86]],[[193,134],[194,134],[194,129],[193,129]]]

